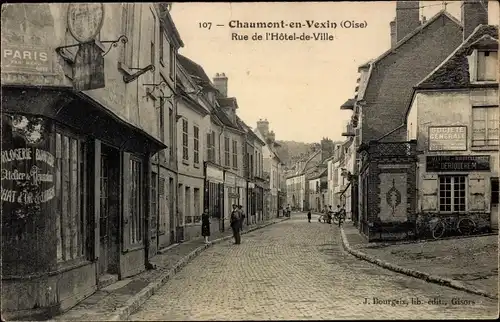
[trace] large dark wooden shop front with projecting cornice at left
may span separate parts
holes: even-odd
[[[164,145],[81,93],[2,91],[2,315],[46,317],[145,269]]]

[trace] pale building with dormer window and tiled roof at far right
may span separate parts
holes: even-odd
[[[487,25],[487,11],[476,6],[484,24],[470,34],[464,28],[464,42],[415,87],[407,136],[417,140],[422,216],[459,213],[479,230],[497,230],[498,26]]]

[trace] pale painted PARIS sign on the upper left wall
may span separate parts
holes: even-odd
[[[2,73],[52,74],[52,52],[45,47],[2,43]]]

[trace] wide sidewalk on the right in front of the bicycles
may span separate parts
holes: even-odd
[[[368,255],[374,261],[364,259],[375,264],[395,264],[417,273],[412,276],[422,272],[421,278],[429,281],[451,280],[498,297],[498,235],[389,244],[367,243],[352,225],[343,231],[351,250]]]

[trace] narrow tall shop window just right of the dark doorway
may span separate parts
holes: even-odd
[[[130,159],[129,168],[129,210],[131,217],[130,243],[138,244],[142,241],[143,212],[142,212],[142,164],[139,160]]]

